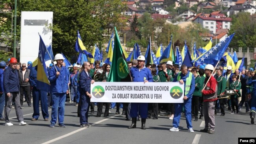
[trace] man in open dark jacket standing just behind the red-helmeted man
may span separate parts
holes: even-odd
[[[29,83],[30,69],[26,68],[26,63],[22,63],[22,69],[19,70],[19,81],[20,81],[20,107],[23,108],[23,95],[27,100],[28,106],[31,107],[30,97],[30,83]]]

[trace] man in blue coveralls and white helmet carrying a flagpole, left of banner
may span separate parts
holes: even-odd
[[[64,110],[66,94],[69,94],[68,82],[69,76],[66,66],[63,66],[62,54],[56,54],[54,60],[57,61],[56,68],[50,69],[49,81],[51,85],[52,94],[52,119],[50,127],[54,127],[57,122],[57,116],[59,118],[59,127],[66,127],[64,122]],[[57,69],[57,70],[56,70]]]

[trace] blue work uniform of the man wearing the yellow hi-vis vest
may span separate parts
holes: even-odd
[[[183,75],[182,73],[180,74],[180,76],[181,76],[180,79],[182,79],[184,81],[184,91],[186,89],[186,81],[187,81],[187,78],[189,77],[189,73],[190,72],[187,72],[186,75]],[[178,76],[178,74],[174,78],[174,80],[173,80],[174,82],[177,82],[177,76]],[[192,95],[195,90],[195,77],[193,74],[191,76],[192,76],[192,79],[191,79],[190,89],[189,89],[188,94],[186,94],[187,100],[184,100],[184,103],[174,103],[175,111],[174,111],[174,118],[173,118],[173,127],[175,127],[175,128],[178,128],[179,124],[180,124],[180,115],[182,112],[182,106],[184,106],[184,114],[186,116],[187,128],[188,129],[192,128],[191,102],[192,102]],[[184,94],[184,96],[185,96],[185,94]]]

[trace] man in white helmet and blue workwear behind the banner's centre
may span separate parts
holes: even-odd
[[[131,76],[133,82],[153,82],[152,74],[148,68],[145,67],[145,57],[140,55],[137,58],[137,66],[131,68]],[[190,106],[191,107],[191,106]],[[148,103],[131,103],[131,117],[132,125],[129,129],[136,127],[136,120],[138,111],[141,116],[141,129],[146,129],[145,123],[148,115]]]

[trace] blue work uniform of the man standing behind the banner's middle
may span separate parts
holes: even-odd
[[[148,68],[145,66],[142,69],[136,67],[131,68],[131,76],[133,82],[153,82],[152,74]],[[131,103],[131,117],[136,118],[138,116],[138,111],[141,118],[147,118],[148,115],[148,103]]]

